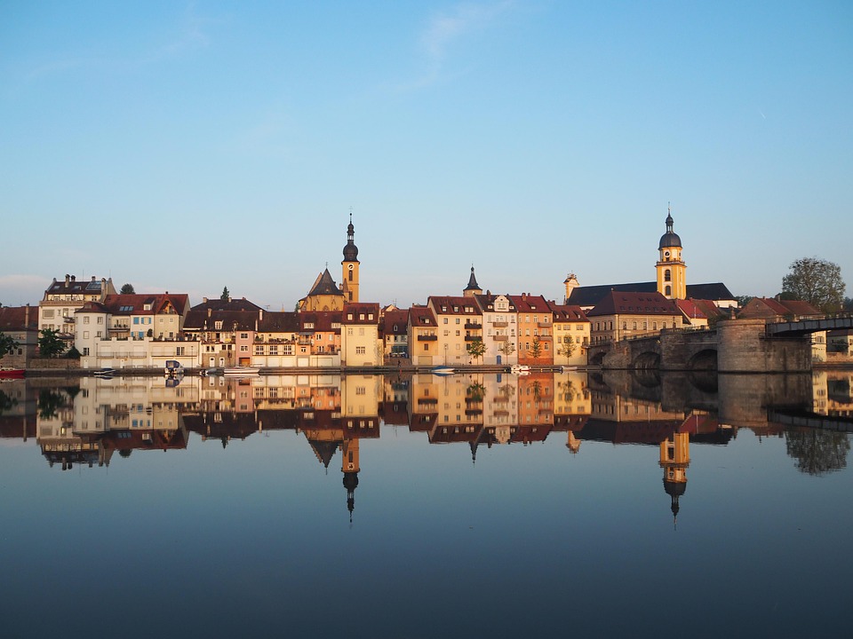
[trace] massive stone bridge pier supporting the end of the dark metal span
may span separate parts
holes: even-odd
[[[717,324],[720,373],[805,373],[811,370],[809,337],[768,337],[764,319]]]

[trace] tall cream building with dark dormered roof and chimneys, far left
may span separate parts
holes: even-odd
[[[60,337],[71,342],[74,339],[74,313],[86,302],[103,302],[108,295],[116,295],[112,278],[77,281],[75,275],[66,275],[65,280],[53,278],[38,304],[38,330],[58,331]]]

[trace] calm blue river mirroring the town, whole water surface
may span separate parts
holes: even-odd
[[[0,635],[847,636],[851,382],[4,381]]]

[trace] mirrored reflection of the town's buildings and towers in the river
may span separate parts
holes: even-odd
[[[849,438],[840,431],[851,422],[851,381],[853,373],[838,371],[213,376],[177,385],[154,376],[12,380],[0,387],[0,427],[4,438],[35,438],[49,466],[63,470],[108,467],[116,453],[184,449],[190,432],[225,448],[293,430],[327,471],[339,454],[350,513],[361,440],[379,438],[381,424],[424,433],[429,444],[469,446],[474,463],[482,449],[554,437],[565,438],[570,454],[580,454],[585,440],[659,446],[677,515],[690,445],[724,446],[739,429],[784,436],[805,473],[844,468]]]

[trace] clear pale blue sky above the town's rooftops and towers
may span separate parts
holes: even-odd
[[[291,310],[655,279],[853,296],[853,3],[0,4],[0,303],[52,278]]]

